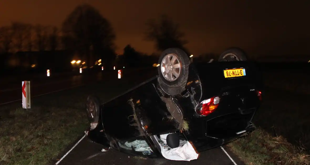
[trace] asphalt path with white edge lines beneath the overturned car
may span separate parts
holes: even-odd
[[[81,139],[81,137],[79,139]],[[63,155],[66,154],[74,144],[76,144],[76,142],[69,146]],[[101,152],[101,149],[102,145],[89,142],[87,137],[85,137],[58,165],[235,165],[232,160],[237,165],[244,165],[235,154],[225,149],[232,158],[231,160],[220,147],[203,151],[200,153],[198,159],[189,162],[172,161],[164,158],[139,159],[139,157],[121,153],[114,149],[109,149],[106,152]]]

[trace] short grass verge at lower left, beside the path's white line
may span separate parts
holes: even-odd
[[[72,143],[84,129],[85,113],[77,108],[16,108],[1,121],[1,164],[45,164]]]

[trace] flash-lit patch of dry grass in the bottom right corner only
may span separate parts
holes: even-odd
[[[294,147],[282,136],[257,129],[228,144],[229,149],[250,165],[309,165],[310,155]]]

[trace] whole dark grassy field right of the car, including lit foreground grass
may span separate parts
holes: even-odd
[[[246,164],[310,164],[310,99],[303,73],[265,73],[263,104],[253,119],[259,129],[229,143]]]

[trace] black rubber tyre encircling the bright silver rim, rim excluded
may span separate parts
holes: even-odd
[[[163,64],[162,62],[164,61],[164,57],[166,57],[166,55],[170,55],[170,54],[175,56],[179,62],[179,69],[176,68],[179,71],[179,75],[177,77],[175,77],[173,75],[173,77],[175,77],[175,79],[168,81],[162,73],[162,64]],[[172,59],[172,57],[171,57],[171,59]],[[188,55],[182,49],[169,48],[169,49],[164,50],[162,52],[161,56],[159,57],[158,64],[160,64],[160,66],[158,66],[158,74],[159,74],[159,77],[161,78],[162,82],[165,85],[167,85],[168,87],[181,87],[184,84],[186,84],[187,78],[188,78],[188,66],[190,64],[190,60],[189,60]]]

